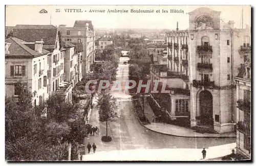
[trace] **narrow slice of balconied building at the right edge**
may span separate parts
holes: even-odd
[[[234,82],[237,92],[237,153],[251,158],[251,44],[248,41],[241,45],[240,54],[245,61]]]

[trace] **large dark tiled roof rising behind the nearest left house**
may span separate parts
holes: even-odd
[[[52,25],[16,25],[12,37],[26,42],[44,41],[45,45],[55,45],[58,29]]]

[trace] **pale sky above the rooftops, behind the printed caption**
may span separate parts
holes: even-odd
[[[6,26],[16,25],[67,25],[73,27],[75,20],[92,20],[95,28],[143,28],[143,29],[179,29],[188,28],[188,12],[199,7],[208,7],[220,11],[223,21],[233,20],[234,27],[242,28],[242,6],[68,6],[68,5],[37,5],[37,6],[6,6]],[[45,9],[48,13],[40,14]],[[59,9],[59,10],[58,10]],[[78,9],[82,12],[65,12],[65,9]],[[128,10],[128,13],[108,13],[108,10]],[[133,10],[154,10],[154,13],[131,13]],[[170,13],[171,9],[184,13]],[[90,12],[90,10],[105,10],[105,13]],[[160,10],[160,13],[157,13]],[[162,13],[167,10],[168,13]],[[57,12],[59,11],[59,12]],[[243,22],[251,25],[250,6],[243,6]],[[50,21],[51,20],[51,21]]]

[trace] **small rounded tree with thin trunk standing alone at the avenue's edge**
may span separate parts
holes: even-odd
[[[117,117],[115,112],[118,109],[117,100],[110,93],[102,92],[97,104],[99,120],[106,122],[106,136],[108,136],[108,121],[112,121]]]

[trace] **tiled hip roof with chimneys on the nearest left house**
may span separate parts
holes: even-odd
[[[8,56],[38,56],[49,53],[49,51],[42,49],[42,53],[38,53],[31,49],[30,44],[24,44],[25,41],[15,37],[11,37],[5,40],[5,42],[11,43],[8,51]],[[33,45],[34,46],[34,45]]]

